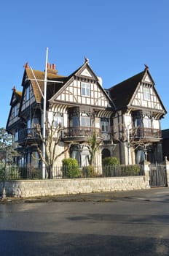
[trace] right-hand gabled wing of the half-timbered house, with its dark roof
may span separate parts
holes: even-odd
[[[124,164],[162,162],[160,119],[165,116],[154,80],[145,67],[143,72],[109,89],[116,106],[112,117],[112,138],[117,143],[114,156]]]

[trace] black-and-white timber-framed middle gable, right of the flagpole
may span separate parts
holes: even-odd
[[[66,105],[90,105],[98,108],[110,108],[111,99],[99,83],[88,64],[74,72],[65,85],[50,99],[51,103]]]

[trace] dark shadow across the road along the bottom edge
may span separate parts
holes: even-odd
[[[1,230],[0,241],[0,255],[5,256],[169,255],[168,239]]]

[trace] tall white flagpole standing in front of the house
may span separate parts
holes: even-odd
[[[45,63],[45,72],[44,72],[44,114],[43,114],[43,158],[46,159],[46,148],[45,148],[45,140],[46,140],[46,119],[47,119],[47,59],[48,59],[48,48],[46,52],[46,63]],[[42,178],[46,178],[46,170],[45,164],[42,162]]]

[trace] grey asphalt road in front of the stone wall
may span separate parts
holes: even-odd
[[[169,255],[169,189],[0,203],[0,255]]]

